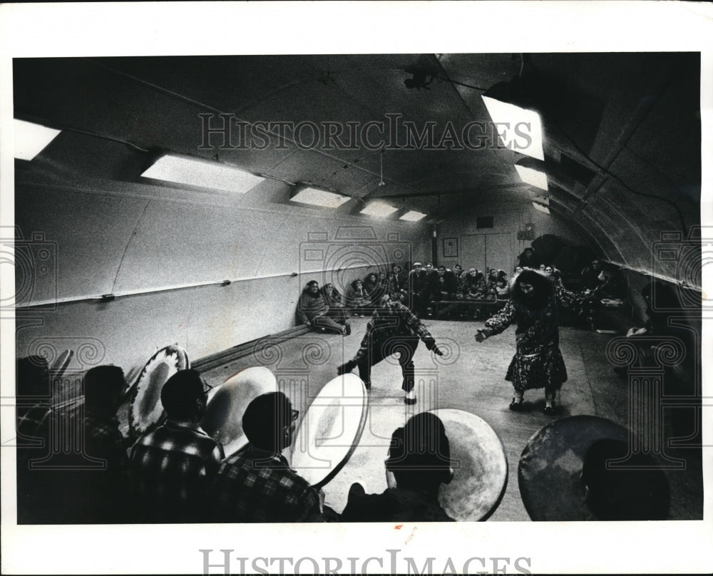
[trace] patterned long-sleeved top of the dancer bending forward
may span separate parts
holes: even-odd
[[[401,302],[389,300],[371,315],[354,362],[359,364],[361,359],[368,357],[374,342],[384,342],[391,336],[419,336],[429,350],[435,344],[434,337],[411,310]]]

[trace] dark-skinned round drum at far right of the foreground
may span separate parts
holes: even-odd
[[[627,429],[599,416],[568,416],[543,426],[520,456],[518,484],[533,520],[596,520],[580,481],[583,458],[597,440],[628,441]]]

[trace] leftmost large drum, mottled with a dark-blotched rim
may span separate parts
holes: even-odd
[[[148,359],[131,393],[129,429],[132,436],[140,436],[160,423],[164,416],[163,385],[173,374],[188,368],[188,354],[180,346],[166,346]]]

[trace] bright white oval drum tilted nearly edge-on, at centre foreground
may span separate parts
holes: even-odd
[[[366,388],[356,374],[327,382],[294,436],[292,468],[314,488],[322,488],[342,470],[359,444],[368,408]]]

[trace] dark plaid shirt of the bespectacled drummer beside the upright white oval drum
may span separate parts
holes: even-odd
[[[220,522],[321,520],[319,495],[281,454],[248,444],[220,466],[211,490]]]

